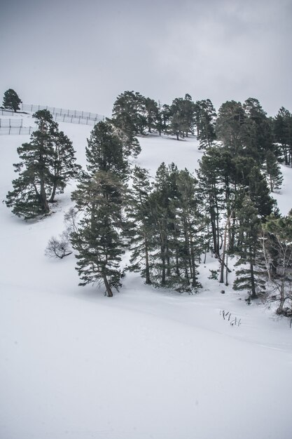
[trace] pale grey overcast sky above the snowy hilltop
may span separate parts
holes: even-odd
[[[292,111],[292,0],[5,0],[0,100],[111,115],[125,90]],[[1,102],[1,101],[0,101]]]

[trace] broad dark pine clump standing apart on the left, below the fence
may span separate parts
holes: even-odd
[[[58,131],[50,112],[40,110],[34,117],[38,129],[29,143],[18,148],[21,161],[14,167],[19,177],[6,197],[13,213],[26,219],[48,214],[49,201],[53,202],[55,194],[62,193],[68,180],[80,171],[69,138]]]

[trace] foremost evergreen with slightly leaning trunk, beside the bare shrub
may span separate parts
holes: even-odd
[[[71,234],[71,243],[78,251],[79,285],[103,283],[109,297],[113,288],[120,287],[122,191],[117,175],[99,170],[72,194],[76,209],[82,212],[78,231]]]

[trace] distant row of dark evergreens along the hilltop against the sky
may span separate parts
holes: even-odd
[[[141,93],[125,91],[113,104],[112,123],[118,128],[143,135],[155,131],[179,138],[197,135],[200,148],[206,149],[214,141],[224,141],[258,160],[265,159],[267,173],[277,161],[292,165],[292,115],[282,107],[277,116],[268,118],[258,100],[228,101],[219,109],[218,116],[211,100],[194,102],[187,93],[176,97],[171,105],[155,102]],[[274,147],[269,145],[273,143]],[[257,154],[257,157],[255,157]]]

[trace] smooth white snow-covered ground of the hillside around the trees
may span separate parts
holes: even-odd
[[[84,165],[92,127],[60,129]],[[16,149],[28,140],[0,136],[1,201],[16,176]],[[137,161],[153,176],[162,161],[195,170],[202,156],[193,139],[139,140]],[[292,170],[283,170],[277,200],[286,214]],[[111,299],[78,287],[73,255],[44,255],[63,230],[72,187],[39,222],[0,204],[0,438],[290,439],[289,321],[262,304],[247,306],[231,286],[221,294],[222,285],[207,279],[218,268],[211,257],[197,295],[155,290],[135,273]]]

